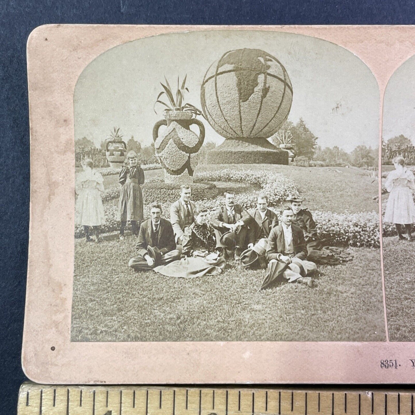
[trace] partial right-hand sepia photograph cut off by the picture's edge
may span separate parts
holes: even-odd
[[[383,272],[389,339],[415,340],[415,57],[391,76],[383,100]]]

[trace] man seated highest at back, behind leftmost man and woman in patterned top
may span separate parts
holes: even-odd
[[[178,247],[183,246],[186,229],[194,222],[193,211],[195,204],[190,200],[192,190],[189,185],[180,186],[180,199],[170,207],[170,222]],[[186,243],[186,241],[185,241]]]

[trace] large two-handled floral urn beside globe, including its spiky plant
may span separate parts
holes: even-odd
[[[193,173],[199,161],[198,151],[205,139],[205,127],[195,118],[203,116],[202,112],[194,105],[184,103],[184,96],[189,92],[186,77],[180,87],[177,78],[176,93],[165,78],[166,84],[161,83],[163,90],[154,104],[166,107],[164,120],[157,121],[153,128],[154,149],[164,170],[165,183],[193,183]],[[167,103],[160,99],[162,95],[168,98]],[[166,129],[159,134],[162,125]],[[191,125],[199,127],[199,135],[190,130]]]

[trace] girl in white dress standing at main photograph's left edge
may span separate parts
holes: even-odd
[[[90,227],[95,233],[95,242],[99,241],[99,227],[105,224],[104,206],[101,193],[104,191],[103,176],[93,170],[93,161],[82,160],[83,172],[76,178],[75,191],[78,199],[75,203],[75,223],[82,225],[87,242],[91,241]]]

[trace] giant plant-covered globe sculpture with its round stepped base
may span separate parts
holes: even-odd
[[[207,156],[222,163],[288,164],[267,138],[287,119],[293,87],[278,59],[260,49],[228,51],[207,70],[200,90],[206,120],[225,142]]]

